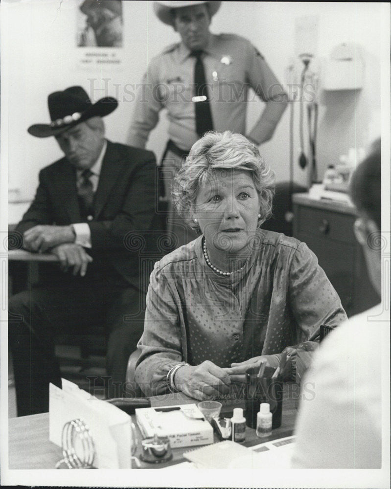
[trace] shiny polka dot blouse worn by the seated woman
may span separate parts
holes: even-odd
[[[345,320],[340,299],[306,244],[258,230],[244,268],[207,266],[200,236],[166,255],[151,274],[136,380],[161,383],[185,361],[220,367],[280,353]]]

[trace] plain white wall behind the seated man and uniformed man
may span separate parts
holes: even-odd
[[[125,1],[124,48],[119,51],[119,68],[87,70],[77,64],[76,14],[81,0],[1,1],[1,62],[6,64],[1,76],[1,97],[9,104],[8,118],[3,118],[8,136],[10,189],[19,189],[20,199],[31,199],[37,174],[61,156],[54,138],[39,139],[26,129],[38,122],[48,122],[47,94],[71,85],[82,85],[92,99],[116,96],[118,109],[105,118],[110,139],[126,142],[132,116],[132,85],[140,82],[149,60],[178,35],[156,18],[152,1]],[[329,163],[349,147],[367,147],[380,135],[380,61],[381,18],[389,15],[388,4],[355,2],[223,2],[213,18],[215,33],[234,32],[250,39],[263,53],[281,82],[286,68],[297,60],[298,50],[310,44],[316,55],[314,67],[340,43],[356,43],[365,59],[364,88],[356,92],[333,92],[320,96],[318,130],[318,164],[322,176]],[[308,19],[311,33],[298,26]],[[305,23],[305,22],[304,22]],[[295,61],[298,68],[299,62]],[[106,79],[106,81],[105,81]],[[107,80],[108,79],[108,80]],[[295,180],[306,181],[298,160],[298,107],[295,106]],[[249,123],[262,110],[260,101],[249,103]],[[305,130],[305,136],[307,131]],[[151,134],[148,148],[161,156],[166,141],[164,114]],[[288,178],[289,110],[281,120],[272,141],[261,153],[276,171],[277,180]],[[3,153],[4,156],[4,153]],[[5,161],[7,161],[5,160]],[[4,159],[3,159],[4,161]]]

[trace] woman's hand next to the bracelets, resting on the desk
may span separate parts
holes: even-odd
[[[174,376],[174,383],[178,390],[188,396],[205,400],[227,394],[231,381],[224,369],[206,360],[193,367],[181,367]]]

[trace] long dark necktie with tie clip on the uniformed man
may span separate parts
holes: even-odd
[[[202,61],[203,51],[193,51],[191,56],[196,58],[194,66],[194,96],[202,97],[204,100],[195,101],[196,130],[201,137],[207,131],[213,130],[212,114],[210,112],[207,81],[205,79],[204,63]]]

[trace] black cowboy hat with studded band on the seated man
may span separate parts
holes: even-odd
[[[50,124],[33,124],[27,131],[33,136],[57,136],[67,129],[84,122],[91,117],[113,112],[118,102],[115,98],[104,97],[92,104],[90,97],[82,87],[69,87],[64,91],[50,93],[47,97]]]

